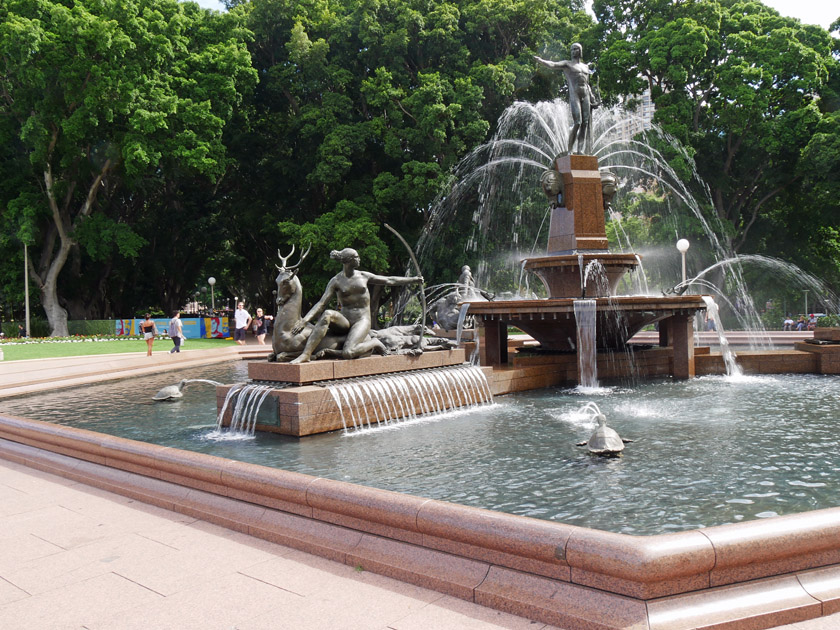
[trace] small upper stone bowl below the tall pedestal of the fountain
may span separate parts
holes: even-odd
[[[539,276],[551,298],[594,298],[615,295],[621,278],[638,264],[635,254],[589,251],[528,258],[525,269]]]

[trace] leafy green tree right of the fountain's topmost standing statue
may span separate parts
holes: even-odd
[[[650,88],[656,120],[691,147],[728,253],[743,251],[805,176],[834,64],[828,32],[756,1],[595,0],[601,87]]]

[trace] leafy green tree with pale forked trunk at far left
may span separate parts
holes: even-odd
[[[62,293],[85,265],[114,284],[115,254],[184,223],[179,186],[225,172],[223,130],[253,81],[246,35],[176,0],[0,5],[0,142],[16,174],[3,219],[39,250],[29,271],[52,334],[67,334]]]

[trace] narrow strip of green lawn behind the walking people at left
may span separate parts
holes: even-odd
[[[208,350],[234,345],[233,339],[187,339],[184,350]],[[156,339],[152,348],[154,352],[169,350],[172,341]],[[51,359],[55,357],[78,357],[91,354],[119,354],[146,352],[146,342],[142,339],[125,339],[114,341],[78,341],[78,342],[49,342],[17,344],[4,342],[0,344],[5,361],[20,361],[22,359]]]

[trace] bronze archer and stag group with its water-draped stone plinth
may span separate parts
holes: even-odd
[[[355,250],[334,251],[344,270],[302,317],[297,272],[309,250],[289,265],[293,253],[294,248],[288,256],[278,252],[272,353],[266,362],[249,364],[250,384],[216,388],[220,427],[302,437],[492,401],[490,369],[464,367],[465,350],[450,340],[426,339],[419,334],[425,332],[422,325],[370,330],[367,283],[399,286],[421,277],[360,272]],[[333,297],[339,298],[340,312],[327,309]],[[354,323],[353,317],[359,319]],[[353,332],[357,325],[367,330]],[[369,356],[373,353],[380,356]],[[258,403],[241,400],[246,395],[258,396]]]

